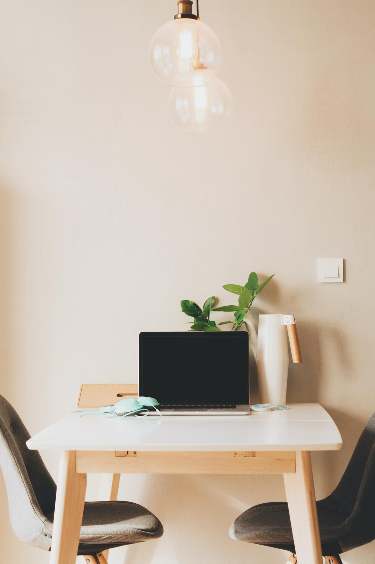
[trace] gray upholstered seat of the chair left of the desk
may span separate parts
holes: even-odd
[[[41,533],[43,544],[46,536],[52,542],[53,512],[46,517]],[[78,554],[88,554],[94,548],[103,552],[107,548],[141,543],[162,534],[162,523],[142,505],[131,501],[86,501]]]

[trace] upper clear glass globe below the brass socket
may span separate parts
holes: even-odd
[[[218,38],[202,21],[168,21],[150,43],[151,67],[168,86],[200,86],[215,76],[221,61]]]

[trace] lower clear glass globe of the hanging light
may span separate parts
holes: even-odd
[[[202,86],[175,87],[168,98],[173,118],[183,133],[211,131],[233,111],[233,99],[217,77]]]

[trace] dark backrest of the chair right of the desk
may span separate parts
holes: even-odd
[[[336,490],[319,501],[347,516],[353,534],[375,539],[375,413],[365,426]]]

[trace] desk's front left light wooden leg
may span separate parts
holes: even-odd
[[[75,473],[75,451],[61,452],[50,564],[75,564],[85,493],[86,474]]]

